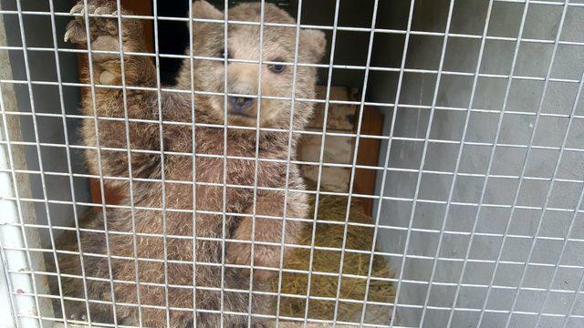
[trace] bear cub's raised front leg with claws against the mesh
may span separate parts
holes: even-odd
[[[88,118],[83,120],[82,137],[87,146],[112,149],[160,149],[159,126],[156,123],[135,122],[132,119],[158,119],[156,68],[148,56],[131,55],[145,53],[147,48],[142,36],[141,22],[137,19],[118,20],[115,1],[88,0],[87,5],[79,1],[71,8],[75,18],[68,23],[64,38],[80,49],[91,50],[91,62],[81,61],[80,79],[86,85],[82,89],[84,97],[82,111]],[[129,13],[120,9],[123,15]],[[96,16],[97,15],[97,16]],[[88,38],[89,30],[89,38]],[[121,76],[120,33],[123,49],[124,82]],[[88,42],[89,40],[89,42]],[[84,55],[85,56],[85,55]],[[89,71],[89,67],[93,68]],[[91,79],[90,77],[93,77]],[[151,87],[152,90],[132,87]],[[167,103],[167,102],[162,102]],[[96,128],[94,117],[97,117]],[[129,118],[128,126],[122,119]],[[129,139],[129,140],[128,140]],[[128,144],[130,141],[130,144]],[[89,170],[104,176],[128,176],[128,154],[120,150],[87,149]],[[148,177],[158,163],[157,155],[135,152],[131,154],[131,169],[134,178]],[[107,180],[108,184],[119,183]]]

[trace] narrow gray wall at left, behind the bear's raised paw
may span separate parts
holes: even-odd
[[[54,1],[57,12],[68,12],[73,1]],[[49,11],[48,1],[22,0],[22,9],[25,11]],[[15,0],[2,0],[2,8],[5,10],[16,10]],[[4,15],[6,38],[8,46],[22,46],[20,28],[17,15]],[[29,47],[53,47],[53,34],[50,17],[48,15],[24,15],[26,46]],[[63,43],[63,31],[67,25],[68,17],[57,16],[57,46],[67,47]],[[68,46],[70,47],[70,46]],[[5,51],[5,50],[2,50]],[[12,74],[16,80],[26,80],[25,59],[22,51],[12,50],[8,53]],[[28,51],[28,63],[32,80],[35,81],[57,81],[57,67],[55,56],[52,51]],[[64,82],[78,82],[78,62],[77,55],[72,53],[59,53],[60,73]],[[26,84],[13,85],[16,91],[18,111],[31,112],[31,102]],[[33,99],[36,113],[61,114],[61,103],[57,86],[33,85]],[[67,114],[78,114],[79,88],[63,87],[63,106]],[[18,118],[18,117],[16,117]],[[35,130],[31,116],[20,116],[20,127],[22,130],[20,140],[35,142]],[[62,118],[58,117],[36,117],[38,127],[38,139],[41,143],[64,144],[65,133]],[[68,119],[68,141],[71,144],[79,144],[78,128],[79,119]],[[16,169],[38,170],[38,153],[36,146],[24,147],[26,154],[26,167]],[[81,152],[72,150],[72,170],[74,173],[85,173]],[[41,159],[43,169],[46,171],[68,173],[67,153],[63,147],[41,147]],[[30,190],[32,198],[43,200],[42,183],[40,175],[28,174],[30,180]],[[71,190],[67,176],[46,175],[47,199],[71,201]],[[75,197],[78,201],[89,201],[89,182],[87,179],[74,179]],[[35,202],[36,222],[47,224],[47,207],[44,202]],[[71,205],[49,204],[48,211],[50,219],[55,226],[72,226],[73,207]],[[38,229],[41,236],[42,245],[50,247],[50,239],[47,229]],[[56,235],[60,233],[55,230]]]

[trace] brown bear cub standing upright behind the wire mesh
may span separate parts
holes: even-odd
[[[106,188],[125,190],[125,200],[124,206],[88,218],[79,245],[75,235],[62,242],[62,249],[83,252],[88,277],[85,283],[68,277],[81,275],[78,255],[60,258],[67,315],[93,323],[233,327],[246,326],[250,313],[274,314],[273,297],[253,293],[249,299],[250,272],[242,265],[253,263],[254,290],[266,290],[281,256],[291,250],[285,247],[281,254],[282,240],[297,243],[304,227],[297,219],[310,218],[298,168],[287,164],[297,143],[297,135],[288,139],[288,130],[290,122],[294,130],[304,128],[311,115],[310,102],[290,98],[315,97],[316,68],[299,66],[295,74],[290,65],[259,66],[259,3],[228,10],[229,20],[253,23],[230,23],[225,48],[224,24],[217,22],[224,13],[196,1],[193,16],[203,20],[193,22],[193,67],[184,59],[177,86],[161,90],[151,56],[135,54],[148,52],[140,21],[121,19],[122,63],[119,54],[104,52],[120,51],[116,2],[87,3],[87,14],[99,16],[86,21],[81,1],[71,9],[81,15],[65,33],[66,41],[84,49],[89,43],[98,51],[92,54],[92,72],[89,67],[81,72],[83,83],[96,85],[86,87],[83,97],[83,113],[91,117],[82,127],[91,147],[86,158],[90,173],[102,175]],[[295,20],[276,5],[265,5],[264,20],[287,26],[264,26],[263,61],[291,63],[296,53],[299,63],[320,61],[326,48],[321,31],[301,29],[297,43],[297,28],[290,26]],[[222,56],[234,61],[225,67],[223,59],[209,58]],[[226,132],[225,109],[228,125],[237,126]],[[193,118],[202,125],[193,128]],[[257,144],[256,124],[267,128]],[[256,316],[251,320],[266,324]]]

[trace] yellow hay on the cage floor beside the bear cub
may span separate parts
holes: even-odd
[[[314,208],[314,200],[312,201]],[[317,231],[315,245],[317,247],[338,248],[342,247],[345,230],[345,218],[347,199],[340,197],[320,197],[318,201]],[[373,220],[362,210],[360,202],[351,202],[349,222],[372,223]],[[373,241],[373,228],[349,225],[347,229],[347,242],[345,245],[345,258],[343,265],[343,278],[340,282],[338,321],[359,322],[362,310],[360,302],[348,302],[349,300],[363,301],[367,285],[367,275],[370,264],[370,251]],[[303,232],[303,245],[310,245],[312,240],[312,226]],[[366,252],[357,252],[366,251]],[[320,320],[332,320],[334,316],[335,301],[337,298],[339,282],[340,251],[315,250],[312,262],[312,278],[310,282],[310,296],[330,298],[328,300],[313,300],[308,303],[308,318]],[[285,263],[286,269],[308,271],[310,250],[296,249]],[[326,274],[333,273],[333,274]],[[336,274],[335,274],[336,273]],[[345,274],[351,277],[344,276]],[[361,276],[354,278],[352,276]],[[371,270],[369,302],[393,302],[395,292],[391,282],[375,278],[391,278],[391,271],[386,259],[375,256]],[[277,280],[273,283],[273,290],[277,291]],[[307,295],[308,274],[284,272],[282,274],[283,294]],[[304,318],[306,297],[297,298],[282,296],[280,301],[280,315]],[[382,305],[367,305],[366,323],[387,323],[391,307]]]

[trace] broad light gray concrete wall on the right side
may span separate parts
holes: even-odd
[[[410,5],[409,2],[394,2],[393,11],[379,16],[381,23],[390,21],[398,28],[406,26],[407,15],[402,15]],[[572,2],[573,3],[573,2]],[[416,1],[412,29],[422,31],[443,32],[448,14],[448,0],[418,0]],[[454,5],[454,15],[451,33],[482,35],[488,1],[459,0]],[[511,2],[495,2],[493,7],[488,36],[516,37],[525,4]],[[553,40],[558,31],[562,5],[529,5],[524,38]],[[395,15],[398,13],[399,15]],[[584,8],[571,6],[561,35],[563,41],[584,41]],[[444,70],[474,73],[480,39],[450,37],[444,58]],[[408,47],[406,68],[437,70],[443,45],[442,36],[411,36]],[[375,65],[399,67],[403,37],[377,38],[376,46],[384,49],[377,53]],[[515,41],[488,40],[480,68],[481,73],[506,75],[510,72]],[[519,49],[515,76],[545,77],[549,65],[553,45],[522,43]],[[553,63],[551,77],[579,79],[584,71],[584,46],[558,46],[558,53]],[[371,76],[368,97],[371,101],[393,102],[396,96],[398,74],[377,74]],[[472,90],[473,77],[443,75],[436,106],[468,108]],[[397,114],[393,108],[385,110],[385,133],[389,135],[391,119],[396,119],[394,137],[421,138],[422,140],[396,140],[391,143],[390,167],[397,169],[419,169],[422,159],[423,138],[428,128],[431,128],[430,138],[440,140],[460,141],[464,128],[466,111],[436,109],[432,124],[429,123],[428,108],[416,106],[431,106],[436,83],[436,74],[406,73],[401,87],[401,104],[412,107],[399,107]],[[503,107],[506,90],[506,78],[480,77],[471,112],[466,140],[478,143],[492,143],[495,140],[496,124]],[[526,145],[535,129],[534,146],[559,147],[562,138],[568,132],[567,147],[582,150],[584,141],[584,119],[574,118],[572,127],[567,131],[568,118],[542,117],[535,126],[535,115],[525,113],[537,112],[537,105],[542,97],[544,82],[524,79],[514,79],[511,85],[506,113],[499,137],[499,144]],[[551,82],[545,93],[542,113],[568,115],[575,101],[577,83]],[[479,110],[480,109],[480,110]],[[512,113],[522,112],[524,114]],[[577,115],[584,114],[584,99],[579,100]],[[384,145],[387,149],[387,143]],[[423,169],[453,172],[458,143],[429,143]],[[459,172],[485,175],[492,147],[482,145],[464,145]],[[491,169],[491,177],[485,191],[485,204],[501,204],[506,208],[484,206],[478,215],[476,232],[471,245],[469,259],[464,272],[457,308],[481,309],[487,301],[489,310],[501,310],[500,313],[485,313],[481,327],[505,326],[507,313],[513,302],[519,280],[527,261],[527,254],[537,230],[538,220],[542,210],[516,209],[512,218],[510,205],[516,193],[519,193],[517,205],[542,207],[546,201],[553,169],[558,161],[559,151],[555,149],[533,149],[527,159],[526,176],[542,178],[540,180],[524,180],[521,189],[517,190],[518,179],[502,176],[518,176],[521,172],[527,149],[499,146],[495,150],[495,161]],[[383,152],[382,152],[382,155]],[[382,157],[382,160],[384,158]],[[560,161],[557,179],[575,179],[581,181],[584,177],[584,153],[567,150]],[[391,170],[387,175],[385,196],[412,199],[418,174]],[[446,201],[453,182],[452,174],[424,173],[422,175],[419,200],[415,204],[408,200],[384,200],[381,208],[381,224],[391,225],[398,229],[380,230],[381,251],[395,254],[403,253],[406,247],[407,228],[412,221],[412,232],[408,244],[408,255],[399,295],[400,304],[423,305],[428,291],[433,259],[436,255],[440,238],[439,231],[445,224],[442,248],[439,253],[433,282],[434,284],[428,305],[444,307],[430,309],[425,313],[423,327],[444,327],[448,320],[450,307],[453,306],[456,288],[448,283],[458,283],[462,272],[464,259],[469,243],[469,232],[472,231],[481,190],[485,177],[458,176],[454,186],[453,201],[459,204],[450,206],[449,215],[444,218],[446,205],[424,200]],[[378,176],[378,189],[381,186],[381,174]],[[574,210],[580,191],[581,182],[561,182],[554,184],[549,208]],[[379,192],[378,192],[379,194]],[[463,203],[463,204],[460,204]],[[413,210],[413,215],[412,215]],[[573,211],[548,210],[543,215],[539,236],[564,238],[573,218]],[[486,287],[494,274],[497,254],[502,244],[501,235],[507,222],[511,220],[509,236],[506,239],[502,260],[495,272],[495,286],[485,300]],[[584,237],[584,215],[579,213],[570,238]],[[518,293],[516,312],[544,313],[559,315],[568,312],[569,304],[574,298],[579,279],[583,274],[581,268],[559,268],[554,282],[550,282],[559,251],[563,241],[537,239],[531,262],[546,263],[545,265],[529,265],[522,287],[532,288]],[[561,264],[584,265],[584,243],[569,241]],[[444,260],[442,260],[444,259]],[[447,260],[446,260],[447,259]],[[399,274],[401,257],[391,256],[391,266]],[[551,292],[547,302],[543,304],[545,290],[551,283]],[[472,286],[474,284],[474,286]],[[543,290],[537,290],[543,289]],[[584,296],[580,292],[573,314],[584,315]],[[480,311],[456,311],[453,317],[455,327],[475,327]],[[422,310],[415,307],[400,306],[397,323],[403,326],[419,326]],[[545,316],[541,318],[542,327],[561,327],[563,317]],[[537,315],[514,314],[511,327],[531,327],[537,321]],[[568,322],[568,327],[581,327],[583,319],[574,318]]]

